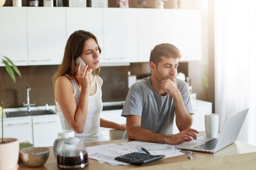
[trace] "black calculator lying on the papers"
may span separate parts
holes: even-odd
[[[165,155],[149,155],[141,152],[132,152],[126,155],[121,155],[115,157],[117,161],[122,161],[134,165],[143,165],[145,163],[150,163],[162,159]]]

